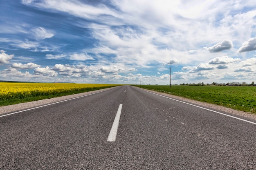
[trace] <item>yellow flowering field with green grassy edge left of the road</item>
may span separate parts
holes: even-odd
[[[0,106],[72,95],[118,86],[117,84],[5,83],[0,82]]]

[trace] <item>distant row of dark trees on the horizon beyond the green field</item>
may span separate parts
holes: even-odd
[[[252,82],[251,84],[247,84],[246,82],[229,82],[229,83],[217,83],[217,82],[213,82],[212,84],[204,84],[204,82],[200,82],[200,83],[182,83],[180,84],[180,86],[256,86],[256,84],[254,82]]]

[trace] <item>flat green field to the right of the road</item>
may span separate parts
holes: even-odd
[[[137,86],[256,114],[254,86]]]

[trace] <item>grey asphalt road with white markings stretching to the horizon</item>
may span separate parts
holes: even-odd
[[[256,170],[255,141],[255,124],[118,86],[0,117],[0,169]]]

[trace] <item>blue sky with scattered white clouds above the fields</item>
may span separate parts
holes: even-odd
[[[0,3],[0,80],[256,82],[255,0]]]

